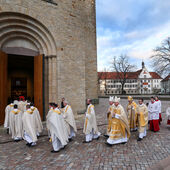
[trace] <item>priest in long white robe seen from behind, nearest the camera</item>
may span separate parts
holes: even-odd
[[[53,111],[48,116],[48,128],[51,134],[51,142],[53,146],[52,153],[59,152],[68,143],[68,132],[66,129],[66,124],[58,108],[57,104],[53,105]]]

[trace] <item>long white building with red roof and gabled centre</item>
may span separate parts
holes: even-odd
[[[98,72],[100,95],[121,94],[117,72]],[[142,69],[128,72],[124,91],[126,94],[156,94],[161,92],[162,78],[156,72],[148,72],[144,62]]]

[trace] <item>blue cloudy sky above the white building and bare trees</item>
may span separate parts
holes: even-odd
[[[96,24],[98,71],[120,55],[154,71],[153,49],[170,36],[170,0],[96,0]]]

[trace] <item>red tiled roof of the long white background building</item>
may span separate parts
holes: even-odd
[[[141,73],[141,70],[138,70],[136,72],[128,72],[127,73],[127,79],[138,79],[139,74]],[[162,79],[157,73],[150,72],[150,75],[153,79]],[[123,76],[123,73],[122,73]],[[119,79],[117,72],[98,72],[99,79]]]

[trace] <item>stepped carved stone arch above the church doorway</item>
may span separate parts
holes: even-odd
[[[41,44],[43,54],[46,56],[56,55],[56,43],[50,31],[38,20],[21,13],[2,12],[0,13],[0,48],[4,46],[4,35],[14,34],[26,37],[31,36]]]

